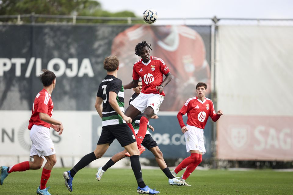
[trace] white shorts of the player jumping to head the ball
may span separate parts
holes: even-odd
[[[155,114],[159,112],[159,108],[164,100],[164,96],[160,94],[143,94],[140,93],[130,104],[143,113],[148,106],[154,109]]]

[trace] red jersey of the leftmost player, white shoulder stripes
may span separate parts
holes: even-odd
[[[53,114],[53,101],[51,99],[51,95],[47,90],[42,89],[34,99],[32,115],[30,119],[30,124],[28,125],[28,129],[31,129],[33,125],[42,125],[44,127],[50,128],[51,124],[40,119],[39,113],[46,113],[50,117]]]

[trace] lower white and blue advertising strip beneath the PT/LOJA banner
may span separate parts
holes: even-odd
[[[168,113],[168,112],[167,112]],[[153,139],[164,154],[164,158],[185,158],[185,138],[181,132],[177,117],[165,112],[158,113],[159,119],[151,119],[150,124],[155,131],[151,131]],[[31,111],[0,111],[0,155],[27,156],[31,148],[30,130],[27,126]],[[62,121],[64,130],[61,136],[52,128],[50,137],[54,143],[58,157],[82,157],[96,149],[102,131],[102,119],[96,111],[54,111],[53,118]],[[183,116],[184,122],[187,117]],[[205,158],[211,157],[210,123],[204,131]],[[104,156],[111,157],[123,148],[117,140],[110,145]],[[145,151],[142,157],[154,158],[150,151]]]

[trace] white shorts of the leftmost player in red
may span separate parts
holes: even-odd
[[[50,138],[49,128],[41,125],[33,125],[30,132],[32,141],[30,157],[38,155],[42,158],[55,154],[55,147]]]

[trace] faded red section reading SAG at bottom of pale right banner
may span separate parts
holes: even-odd
[[[217,157],[226,160],[293,160],[293,117],[223,115],[217,123]]]

